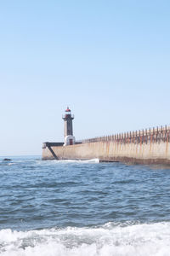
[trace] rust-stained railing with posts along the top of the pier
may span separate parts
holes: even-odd
[[[153,127],[139,131],[128,131],[110,136],[94,137],[82,140],[82,143],[161,143],[170,142],[170,126]]]

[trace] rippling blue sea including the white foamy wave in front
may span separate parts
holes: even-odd
[[[170,255],[170,167],[0,158],[0,255]]]

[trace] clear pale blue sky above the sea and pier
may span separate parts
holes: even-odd
[[[0,155],[169,125],[170,2],[0,3]]]

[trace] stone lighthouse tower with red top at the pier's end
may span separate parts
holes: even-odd
[[[74,115],[71,114],[71,109],[67,107],[65,110],[65,114],[63,114],[62,117],[65,121],[65,144],[67,145],[73,145],[75,144],[75,137],[73,136],[73,130],[72,130],[72,120],[74,119]]]

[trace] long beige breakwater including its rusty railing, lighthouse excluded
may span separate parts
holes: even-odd
[[[123,161],[139,164],[170,164],[170,127],[129,131],[94,137],[75,145],[43,143],[42,159]]]

